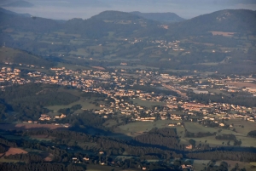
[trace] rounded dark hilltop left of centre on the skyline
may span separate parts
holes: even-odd
[[[151,37],[164,35],[165,29],[158,26],[160,23],[147,20],[136,14],[119,11],[104,11],[88,20],[68,20],[65,29],[68,33],[81,34],[85,37],[108,37],[113,32],[115,37]]]

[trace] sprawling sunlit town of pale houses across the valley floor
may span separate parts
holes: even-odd
[[[34,66],[33,66],[34,67]],[[222,92],[245,92],[248,95],[255,96],[256,88],[254,87],[236,87],[236,83],[252,83],[256,81],[253,77],[236,76],[233,78],[226,77],[221,79],[199,76],[177,77],[169,74],[160,73],[159,71],[95,71],[83,70],[73,71],[61,68],[50,68],[54,71],[54,76],[40,71],[28,72],[26,77],[20,77],[20,69],[12,69],[11,67],[2,67],[0,72],[0,83],[2,90],[5,86],[11,84],[24,83],[49,83],[61,86],[72,86],[79,88],[83,92],[93,92],[96,94],[106,94],[112,102],[101,104],[99,110],[93,110],[96,115],[108,118],[109,115],[125,115],[131,117],[132,121],[137,122],[154,122],[155,120],[173,120],[179,121],[169,126],[181,125],[182,121],[202,121],[209,120],[217,123],[219,127],[232,125],[224,125],[224,119],[239,118],[249,122],[255,122],[255,108],[220,102],[211,102],[201,104],[196,100],[189,101],[186,94],[192,91],[195,94],[215,94],[210,92],[209,88],[215,88]],[[129,72],[129,74],[127,74]],[[133,76],[137,79],[134,79]],[[203,80],[203,81],[201,81]],[[170,84],[169,87],[177,92],[175,95],[166,95],[156,92],[145,92],[141,89],[135,89],[136,85],[148,85],[153,88],[161,87],[163,84]],[[233,83],[233,84],[232,84]],[[234,84],[235,83],[235,84]],[[129,89],[125,87],[129,86]],[[166,87],[168,88],[168,87]],[[165,88],[165,89],[166,89]],[[128,100],[127,100],[128,98]],[[143,100],[148,102],[156,102],[162,105],[146,107],[133,103],[132,100]],[[195,116],[198,116],[195,118]],[[38,121],[51,121],[66,117],[65,114],[60,116],[49,117],[42,114]],[[27,121],[28,123],[38,123],[38,121]],[[57,123],[56,123],[57,124]],[[68,127],[67,125],[64,125]]]

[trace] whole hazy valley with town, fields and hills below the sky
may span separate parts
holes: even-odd
[[[0,13],[0,170],[255,169],[255,11]]]

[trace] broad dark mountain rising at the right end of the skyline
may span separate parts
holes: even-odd
[[[228,31],[256,34],[256,11],[225,9],[203,14],[190,20],[170,25],[169,31],[179,35],[201,34],[207,31]]]

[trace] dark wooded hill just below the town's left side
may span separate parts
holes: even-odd
[[[1,117],[9,120],[38,120],[41,114],[49,112],[47,105],[68,105],[79,97],[67,92],[55,91],[56,85],[28,83],[14,85],[0,92]],[[15,115],[7,115],[12,111]],[[16,117],[16,119],[14,118]]]

